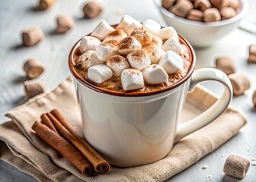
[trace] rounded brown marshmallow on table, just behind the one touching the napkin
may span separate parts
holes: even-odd
[[[24,71],[27,74],[27,77],[32,79],[39,77],[43,73],[44,67],[40,61],[37,61],[35,58],[29,58],[24,64]]]

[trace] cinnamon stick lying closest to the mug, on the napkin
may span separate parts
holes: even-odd
[[[105,161],[104,158],[101,157],[101,155],[98,154],[91,146],[90,144],[83,139],[82,137],[79,137],[78,134],[75,133],[75,130],[69,124],[69,121],[64,118],[60,112],[57,109],[53,109],[53,111],[50,112],[64,127],[66,127],[67,130],[76,138],[78,139],[86,149],[89,151],[88,153],[85,153],[85,157],[88,158],[88,161],[91,162],[91,164],[94,166],[94,170],[99,173],[104,173],[110,170],[110,165]],[[81,151],[80,151],[81,152]],[[90,154],[91,153],[91,154]]]

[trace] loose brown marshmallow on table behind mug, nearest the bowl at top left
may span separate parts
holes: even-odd
[[[88,2],[83,8],[85,17],[91,19],[101,14],[101,6],[96,2]]]

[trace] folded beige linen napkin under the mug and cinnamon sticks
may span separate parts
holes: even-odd
[[[197,87],[194,93],[187,96],[181,121],[194,118],[215,101],[216,96],[203,87]],[[163,181],[213,152],[238,133],[247,122],[238,111],[228,108],[216,121],[180,140],[158,162],[136,168],[111,167],[107,174],[86,177],[31,130],[34,121],[43,112],[53,108],[58,108],[75,130],[82,134],[71,77],[52,92],[30,99],[24,105],[9,111],[6,115],[12,121],[0,125],[0,159],[40,181]]]

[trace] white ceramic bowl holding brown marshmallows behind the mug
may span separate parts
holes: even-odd
[[[235,17],[218,22],[204,23],[176,16],[162,7],[161,0],[154,0],[154,2],[155,5],[158,6],[166,24],[174,27],[174,29],[177,30],[181,36],[184,36],[194,47],[213,45],[218,39],[226,36],[238,27],[239,20],[241,20],[248,11],[247,0],[240,0],[242,6],[241,11]]]

